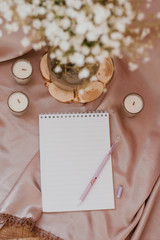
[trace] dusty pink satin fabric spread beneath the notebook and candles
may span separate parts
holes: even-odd
[[[151,62],[130,72],[126,58],[115,60],[115,74],[108,92],[87,104],[63,104],[44,87],[39,63],[43,52],[23,56],[34,66],[32,81],[18,85],[10,60],[0,63],[0,213],[32,218],[36,226],[64,240],[159,240],[160,239],[160,48]],[[30,99],[28,112],[13,116],[8,95],[16,90]],[[143,96],[145,107],[136,117],[122,110],[131,92]],[[39,167],[38,114],[107,110],[111,142],[121,142],[112,154],[115,209],[66,213],[42,213]],[[116,198],[118,186],[124,190]],[[53,203],[54,204],[54,203]],[[3,224],[2,224],[3,226]]]

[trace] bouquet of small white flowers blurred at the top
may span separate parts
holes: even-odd
[[[150,5],[151,0],[146,0],[145,7]],[[23,46],[32,44],[35,50],[47,46],[55,74],[71,64],[77,67],[79,79],[92,80],[96,76],[90,64],[108,56],[122,57],[122,49],[142,54],[151,46],[142,40],[155,25],[148,24],[137,9],[137,1],[131,0],[0,0],[0,24],[4,21],[8,32],[21,26],[26,35]],[[157,30],[160,13],[155,16]],[[132,60],[129,67],[135,70],[138,65]]]

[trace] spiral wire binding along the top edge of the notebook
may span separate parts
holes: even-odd
[[[87,111],[87,112],[53,112],[40,114],[39,118],[75,118],[75,117],[104,117],[108,116],[106,111]]]

